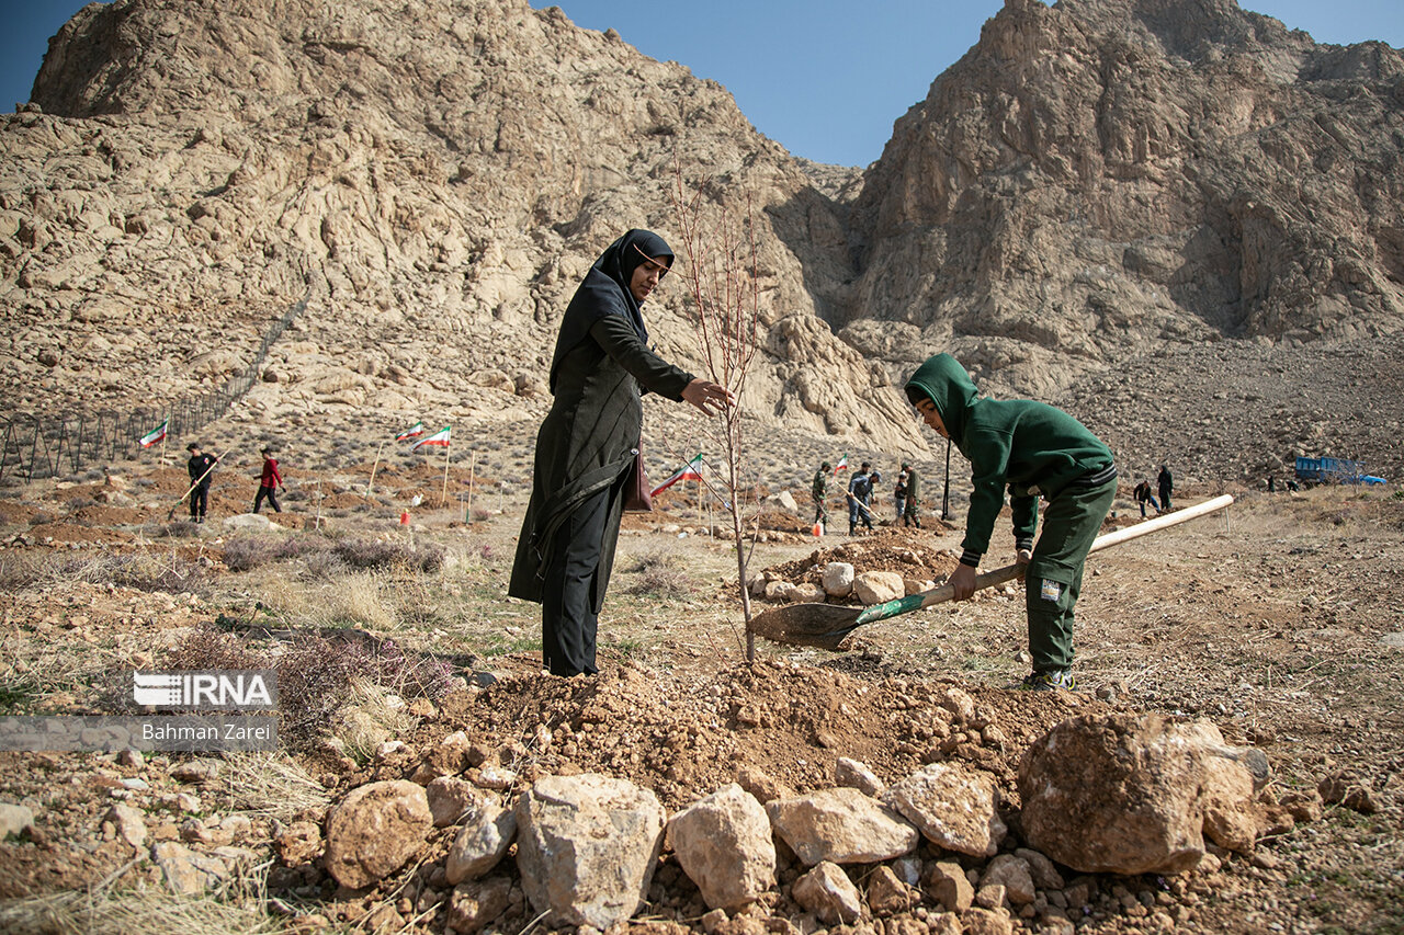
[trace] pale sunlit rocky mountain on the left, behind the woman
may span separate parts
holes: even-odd
[[[559,8],[88,7],[55,37],[34,102],[0,124],[0,293],[20,310],[0,385],[28,387],[22,407],[190,393],[309,295],[306,340],[261,368],[275,379],[258,406],[539,413],[531,390],[590,263],[630,226],[681,244],[677,157],[689,185],[724,180],[709,185],[733,208],[753,197],[754,413],[921,448],[804,285],[807,257],[842,250],[840,209],[723,87]],[[70,170],[46,173],[53,159]],[[685,292],[660,291],[650,331],[702,372]]]

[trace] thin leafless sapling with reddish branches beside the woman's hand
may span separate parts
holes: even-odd
[[[760,351],[760,279],[757,275],[755,216],[750,198],[744,212],[716,195],[713,180],[688,185],[674,167],[674,212],[681,234],[681,275],[696,317],[698,351],[708,376],[736,396],[736,404],[709,423],[722,452],[722,490],[713,493],[730,518],[736,570],[746,619],[746,658],[755,661],[751,632],[751,594],[746,570],[760,531],[760,503],[744,483],[746,383]],[[713,477],[716,472],[712,472]]]

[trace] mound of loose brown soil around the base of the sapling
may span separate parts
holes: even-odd
[[[962,717],[948,694],[969,695]],[[834,785],[840,757],[868,764],[885,782],[924,762],[960,758],[988,772],[1018,802],[1018,758],[1035,737],[1074,715],[1106,706],[1068,692],[1031,695],[958,688],[953,681],[858,679],[783,660],[736,665],[705,678],[630,665],[595,678],[510,675],[482,692],[446,698],[418,744],[452,730],[501,751],[522,779],[605,772],[653,789],[681,809],[736,782],[741,768],[806,792]],[[354,786],[393,771],[347,776]]]

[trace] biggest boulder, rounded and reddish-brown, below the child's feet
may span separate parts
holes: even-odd
[[[1074,717],[1019,762],[1029,844],[1084,873],[1179,873],[1205,854],[1206,814],[1251,813],[1252,775],[1217,730],[1154,715]],[[1237,779],[1233,769],[1241,769]],[[1237,830],[1236,835],[1247,835]],[[1228,838],[1226,838],[1228,840]],[[1234,838],[1251,845],[1250,840]]]

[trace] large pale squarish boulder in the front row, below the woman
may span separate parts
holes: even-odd
[[[607,929],[643,904],[663,849],[657,796],[598,774],[546,776],[517,800],[522,889],[550,925]]]

